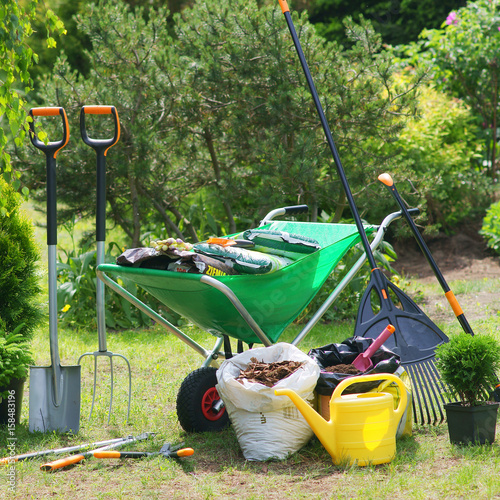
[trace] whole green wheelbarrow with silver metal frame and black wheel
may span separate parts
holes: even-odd
[[[116,264],[98,266],[97,275],[108,287],[204,358],[202,366],[183,381],[177,396],[177,416],[187,432],[216,431],[228,424],[227,413],[215,388],[217,369],[211,364],[231,356],[230,344],[227,348],[229,339],[238,341],[238,350],[241,350],[242,343],[249,346],[276,343],[284,330],[309,305],[343,256],[359,242],[355,224],[274,220],[304,211],[307,211],[304,205],[278,208],[261,222],[259,229],[313,238],[321,246],[318,251],[273,273],[212,277]],[[366,234],[374,235],[371,242],[373,250],[382,242],[388,225],[400,217],[401,212],[395,212],[388,215],[379,227],[365,226]],[[312,330],[364,262],[363,254],[304,325],[292,344],[297,345]],[[202,347],[128,292],[119,284],[120,281],[143,288],[169,309],[214,335],[214,347],[211,350]],[[223,344],[224,350],[221,351]]]

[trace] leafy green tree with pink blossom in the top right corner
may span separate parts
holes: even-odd
[[[481,127],[486,171],[498,169],[500,111],[500,2],[477,0],[451,12],[440,29],[424,30],[405,48],[416,64],[433,67],[436,85],[463,99]]]

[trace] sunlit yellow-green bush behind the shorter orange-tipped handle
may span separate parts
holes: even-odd
[[[453,230],[491,202],[491,180],[479,168],[477,127],[463,101],[431,86],[420,88],[419,110],[420,117],[387,147],[405,161],[394,181],[405,200],[420,208],[426,232]],[[394,207],[390,197],[380,206],[388,202]]]

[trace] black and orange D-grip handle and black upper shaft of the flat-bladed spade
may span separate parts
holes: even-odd
[[[45,153],[47,160],[47,245],[57,245],[56,157],[69,141],[68,117],[64,108],[60,107],[31,108],[28,114],[32,118],[29,122],[31,142]],[[47,144],[41,141],[35,132],[35,116],[60,116],[63,126],[62,139]]]

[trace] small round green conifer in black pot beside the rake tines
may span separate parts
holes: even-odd
[[[436,348],[436,358],[449,395],[457,400],[444,405],[450,441],[493,443],[500,403],[489,401],[489,394],[498,384],[499,341],[486,334],[460,333]]]

